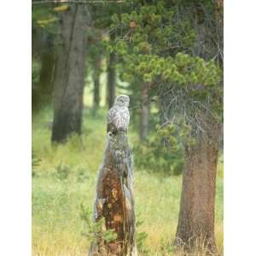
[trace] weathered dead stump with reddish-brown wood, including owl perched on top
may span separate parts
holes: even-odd
[[[129,97],[118,96],[108,113],[108,143],[96,184],[94,221],[104,218],[103,230],[116,239],[97,238],[89,256],[136,256],[136,217],[133,195],[132,152],[128,144]]]

